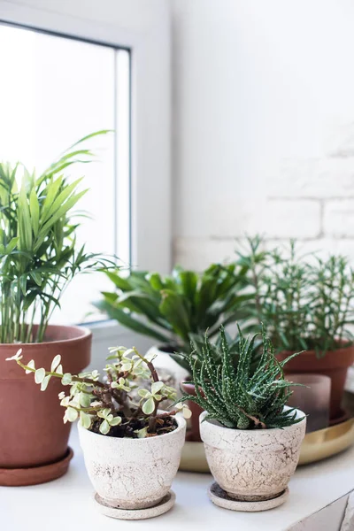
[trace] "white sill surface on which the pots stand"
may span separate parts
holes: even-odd
[[[176,504],[156,519],[109,519],[96,511],[76,428],[70,442],[74,458],[66,475],[33,487],[0,487],[0,531],[284,531],[354,489],[354,447],[321,463],[301,466],[289,484],[288,501],[267,512],[231,512],[209,501],[212,476],[178,473]],[[328,530],[329,531],[329,530]]]

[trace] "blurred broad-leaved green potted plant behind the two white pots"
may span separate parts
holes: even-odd
[[[204,335],[206,329],[213,337],[221,324],[242,318],[250,297],[243,292],[245,271],[243,267],[221,264],[213,264],[203,273],[175,267],[171,275],[165,276],[140,271],[127,276],[108,271],[115,289],[104,292],[96,307],[123,326],[162,343],[152,347],[150,354],[158,354],[157,366],[168,367],[175,385],[179,385],[190,375],[180,353],[189,350],[191,339]],[[183,387],[193,392],[188,381]],[[191,420],[189,440],[200,440],[197,417],[193,415]]]

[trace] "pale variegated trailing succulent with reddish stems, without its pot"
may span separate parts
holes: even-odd
[[[22,358],[19,349],[7,360],[16,361],[27,374],[33,373],[42,391],[51,378],[60,379],[63,386],[70,388],[58,396],[65,407],[65,423],[79,419],[82,427],[95,433],[134,439],[174,430],[176,412],[183,412],[186,418],[190,415],[188,407],[181,404],[172,412],[161,411],[165,401],[176,399],[176,392],[159,380],[153,358],[143,357],[135,348],[112,347],[102,380],[96,370],[78,375],[64,373],[59,354],[49,371],[36,367],[33,359],[24,364]]]

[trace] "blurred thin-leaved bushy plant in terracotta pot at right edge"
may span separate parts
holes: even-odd
[[[287,365],[289,373],[319,373],[331,379],[330,418],[342,417],[341,402],[348,368],[354,362],[354,273],[347,258],[299,256],[289,250],[262,250],[259,237],[250,251],[239,252],[249,269],[254,294],[249,317],[265,323],[279,359],[303,350]]]

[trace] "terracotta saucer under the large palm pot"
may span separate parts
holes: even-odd
[[[29,468],[0,468],[0,485],[4,487],[26,487],[38,485],[60,478],[68,469],[73,458],[73,450],[69,447],[64,458],[50,465],[31,466]]]

